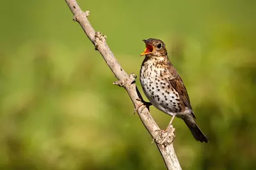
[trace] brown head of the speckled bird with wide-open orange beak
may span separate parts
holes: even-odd
[[[146,55],[146,56],[154,56],[154,57],[161,57],[161,56],[166,56],[167,51],[164,45],[164,42],[161,41],[160,39],[154,39],[154,38],[149,38],[149,39],[143,39],[146,48],[143,53],[141,53],[140,56]]]

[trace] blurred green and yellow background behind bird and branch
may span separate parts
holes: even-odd
[[[256,1],[78,3],[127,73],[139,74],[142,39],[166,43],[209,138],[174,121],[183,169],[256,168]],[[64,0],[1,6],[0,169],[165,169]],[[171,117],[150,111],[166,129]]]

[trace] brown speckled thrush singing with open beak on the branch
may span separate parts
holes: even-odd
[[[168,59],[165,44],[160,39],[143,39],[145,50],[141,56],[140,83],[150,103],[158,110],[184,120],[197,141],[208,143],[207,137],[196,124],[188,92],[179,73]],[[150,106],[145,103],[145,106]],[[144,108],[143,108],[144,109]]]

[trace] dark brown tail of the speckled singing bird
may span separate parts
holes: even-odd
[[[205,142],[205,143],[208,142],[208,139],[206,138],[204,133],[201,131],[201,129],[198,127],[194,119],[184,120],[184,122],[186,123],[189,130],[191,131],[191,133],[193,134],[194,138],[197,141]]]

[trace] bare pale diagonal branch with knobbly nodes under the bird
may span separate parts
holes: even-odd
[[[169,132],[161,131],[158,125],[151,117],[149,110],[147,108],[142,107],[143,99],[139,90],[135,85],[135,74],[127,74],[124,69],[120,66],[115,56],[109,49],[109,46],[106,43],[106,36],[102,35],[100,32],[95,32],[92,25],[88,21],[87,17],[89,15],[89,11],[83,12],[81,8],[78,6],[76,0],[65,0],[68,4],[68,7],[74,14],[73,20],[77,21],[81,27],[83,28],[86,36],[92,41],[95,46],[95,50],[98,50],[106,63],[108,64],[111,71],[115,74],[118,81],[115,81],[115,85],[119,85],[120,87],[124,87],[124,89],[129,94],[132,103],[134,104],[136,111],[141,119],[141,122],[152,136],[154,141],[156,141],[157,148],[159,149],[166,168],[168,170],[177,170],[181,169],[179,160],[175,154],[173,148],[173,139],[175,138],[174,131],[175,129],[172,125],[168,126]],[[141,106],[141,107],[140,107]],[[143,109],[144,108],[144,109]]]

